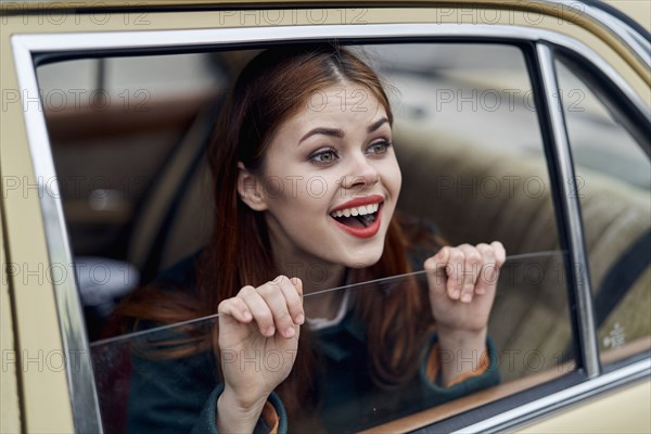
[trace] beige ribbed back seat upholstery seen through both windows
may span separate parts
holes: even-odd
[[[418,131],[416,133],[414,131]],[[545,158],[481,148],[411,125],[396,128],[403,167],[399,207],[435,221],[451,244],[501,241],[509,255],[558,250]],[[408,168],[408,169],[405,169]],[[592,288],[650,227],[648,192],[597,173],[579,174]],[[497,183],[501,184],[499,192]],[[646,272],[600,330],[601,343],[618,323],[625,341],[651,333],[651,282]],[[505,267],[490,320],[502,378],[551,368],[569,358],[571,329],[560,255]],[[605,341],[603,341],[605,339]],[[621,343],[621,342],[620,342]],[[608,345],[605,345],[608,347]]]

